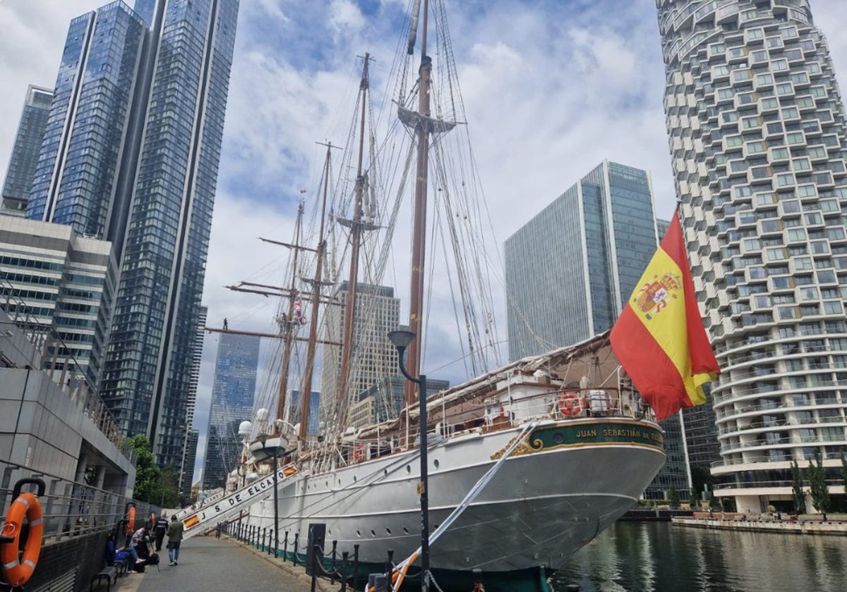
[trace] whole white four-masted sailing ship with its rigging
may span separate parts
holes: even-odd
[[[399,579],[416,589],[422,579],[428,589],[470,589],[479,570],[489,592],[540,592],[637,502],[665,461],[663,432],[608,332],[500,361],[488,295],[497,249],[484,238],[446,3],[410,8],[385,107],[372,115],[366,54],[350,156],[334,168],[335,146],[326,145],[313,230],[302,206],[284,244],[291,283],[276,290],[280,382],[272,411],[245,426],[234,486],[246,493],[180,518],[191,534],[208,515],[232,515],[213,508],[248,500],[242,523],[275,525],[289,552],[295,534],[302,550],[309,525],[324,524],[340,551],[358,545],[362,573],[384,571],[393,550]],[[405,243],[391,250],[398,238]],[[380,304],[393,298],[380,292],[388,282],[408,282],[405,321],[399,304]],[[430,389],[451,332],[474,377]],[[433,368],[428,382],[423,371]],[[274,495],[257,495],[277,463]],[[250,485],[248,475],[260,480]]]

